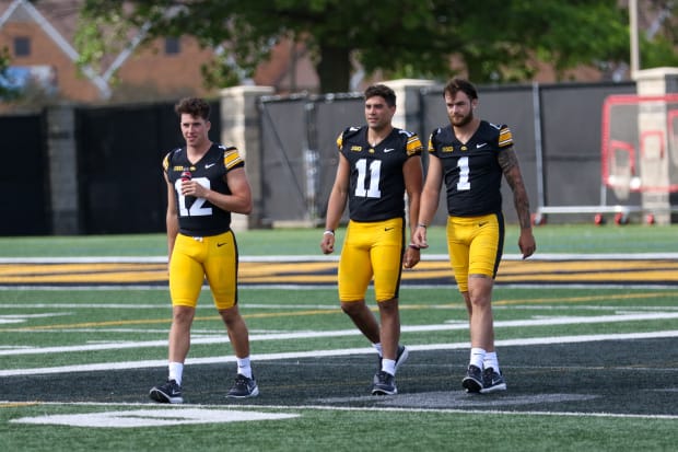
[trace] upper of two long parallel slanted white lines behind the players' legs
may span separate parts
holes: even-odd
[[[516,327],[516,326],[546,326],[546,325],[580,325],[592,323],[612,323],[612,322],[630,322],[630,321],[651,321],[651,320],[667,320],[678,318],[677,312],[652,312],[652,313],[638,313],[638,314],[623,314],[623,315],[596,315],[596,316],[566,316],[566,317],[549,317],[549,318],[535,318],[535,320],[521,320],[521,321],[501,321],[494,322],[495,328],[501,327]],[[417,325],[417,326],[402,326],[402,333],[422,333],[422,332],[444,332],[454,329],[468,329],[467,322],[455,322],[442,325]],[[30,329],[28,329],[30,331]],[[54,331],[54,329],[52,329]],[[273,333],[273,334],[253,334],[249,336],[249,341],[258,340],[284,340],[284,339],[309,339],[319,337],[343,337],[343,336],[359,336],[360,333],[356,329],[339,329],[329,332],[294,332],[294,333]],[[191,339],[194,345],[210,345],[210,344],[226,344],[229,338],[226,335],[220,337],[195,337]],[[62,347],[35,347],[35,348],[21,348],[0,350],[0,357],[2,356],[17,356],[17,355],[42,355],[42,354],[65,354],[72,351],[95,351],[95,350],[122,350],[130,348],[155,348],[167,347],[167,340],[145,340],[145,341],[128,341],[128,343],[107,343],[107,344],[90,344],[90,345],[77,345],[77,346],[62,346]],[[0,375],[2,372],[0,371]]]

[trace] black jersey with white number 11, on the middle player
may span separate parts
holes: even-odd
[[[416,134],[394,128],[372,147],[367,126],[349,127],[337,138],[339,152],[351,166],[349,217],[353,221],[383,221],[405,217],[407,159],[421,155],[423,144]]]

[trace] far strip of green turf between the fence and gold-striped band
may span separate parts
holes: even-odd
[[[571,224],[534,228],[537,253],[665,253],[678,252],[678,225]],[[430,248],[446,253],[445,230],[430,228]],[[320,254],[322,229],[250,230],[236,234],[242,255]],[[337,231],[341,241],[343,230]],[[506,227],[504,253],[517,253],[518,229]],[[0,257],[34,256],[163,256],[164,234],[0,237]],[[338,251],[337,251],[338,252]]]

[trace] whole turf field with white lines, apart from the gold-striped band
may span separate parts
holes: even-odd
[[[559,254],[676,253],[677,232],[535,229],[539,251]],[[238,239],[244,256],[314,255],[320,235],[269,230]],[[517,253],[516,237],[510,229],[506,253]],[[442,229],[432,229],[431,242],[431,254],[444,254]],[[164,253],[160,234],[0,239],[5,258]],[[147,394],[166,373],[164,287],[0,287],[0,450],[675,448],[678,286],[498,286],[495,331],[508,391],[487,396],[465,394],[459,384],[468,329],[454,287],[406,283],[400,304],[410,359],[398,372],[399,394],[373,397],[374,351],[338,309],[332,285],[243,285],[261,394],[233,402],[224,393],[235,364],[206,291],[185,371],[186,404],[160,406]]]

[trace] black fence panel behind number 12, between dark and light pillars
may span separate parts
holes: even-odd
[[[165,231],[162,159],[185,143],[174,104],[79,108],[78,155],[85,233]],[[219,103],[210,137],[219,141]]]

